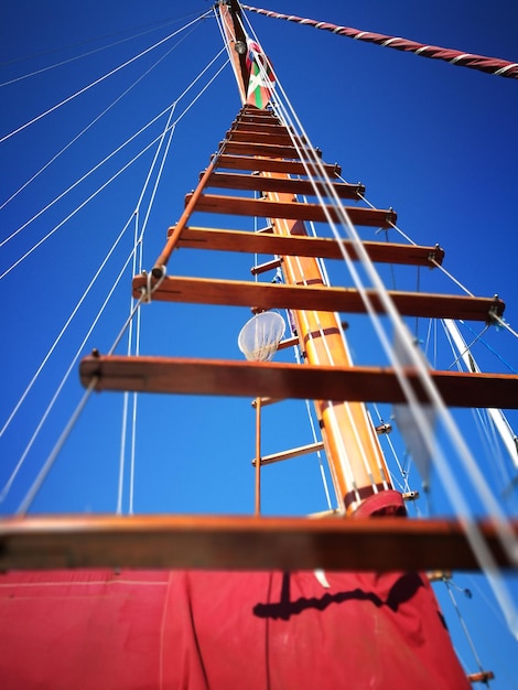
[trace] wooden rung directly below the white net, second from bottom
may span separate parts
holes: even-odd
[[[404,373],[417,398],[427,402],[416,371],[408,368]],[[95,354],[82,360],[79,375],[85,388],[96,379],[96,390],[406,402],[399,379],[389,367]],[[430,371],[430,376],[451,407],[518,409],[517,376],[461,371]]]

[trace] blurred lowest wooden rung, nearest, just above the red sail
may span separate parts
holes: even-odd
[[[511,564],[489,522],[479,529]],[[511,529],[518,533],[518,524]],[[69,516],[0,520],[0,569],[467,570],[479,565],[460,522],[404,518]]]

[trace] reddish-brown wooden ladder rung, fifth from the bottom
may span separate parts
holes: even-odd
[[[192,196],[192,194],[185,196],[185,205],[188,204]],[[345,211],[354,225],[388,228],[397,220],[397,214],[391,209],[346,206]],[[325,211],[320,204],[271,202],[268,200],[223,196],[219,194],[202,194],[194,207],[194,212],[327,223]],[[334,220],[339,220],[334,206],[327,206],[327,212]]]

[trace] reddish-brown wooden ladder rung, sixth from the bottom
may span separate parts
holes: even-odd
[[[335,182],[332,185],[322,182],[312,183],[309,180],[292,180],[279,177],[261,177],[258,175],[244,175],[239,173],[218,173],[211,175],[207,187],[219,187],[226,190],[249,190],[257,192],[279,192],[287,194],[303,194],[315,196],[316,190],[323,196],[330,196],[330,186],[339,198],[358,200],[365,194],[363,184],[347,184]]]

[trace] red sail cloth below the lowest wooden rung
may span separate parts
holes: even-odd
[[[4,690],[465,689],[416,573],[0,575]]]

